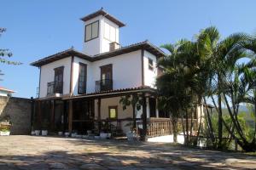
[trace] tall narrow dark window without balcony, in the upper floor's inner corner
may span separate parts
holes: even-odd
[[[84,63],[79,63],[79,94],[86,93],[86,74],[87,65],[84,65]]]

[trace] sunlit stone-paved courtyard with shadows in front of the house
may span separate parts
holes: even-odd
[[[0,169],[256,169],[256,157],[168,144],[0,137]]]

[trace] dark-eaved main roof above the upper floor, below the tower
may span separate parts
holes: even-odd
[[[148,40],[146,40],[144,42],[137,42],[137,43],[131,44],[129,46],[118,48],[113,51],[102,53],[102,54],[96,54],[94,56],[81,53],[79,51],[76,51],[73,48],[69,48],[69,49],[61,51],[57,54],[49,55],[48,57],[45,57],[44,59],[39,59],[38,61],[32,62],[30,65],[39,67],[41,65],[46,65],[55,60],[64,59],[69,56],[77,56],[82,59],[86,59],[86,60],[93,62],[93,61],[100,60],[100,59],[108,59],[110,57],[114,57],[114,56],[117,56],[120,54],[130,53],[130,52],[136,51],[138,49],[146,49],[146,50],[148,50],[148,52],[156,55],[157,57],[166,55],[162,50],[160,50],[160,48],[154,46],[151,42],[148,42]]]

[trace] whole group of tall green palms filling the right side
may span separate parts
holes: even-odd
[[[244,33],[236,33],[220,40],[218,29],[211,26],[201,30],[194,42],[182,40],[174,45],[167,44],[163,48],[168,49],[171,54],[166,59],[160,60],[159,65],[163,65],[165,74],[158,78],[157,85],[160,94],[163,95],[163,101],[169,102],[165,106],[166,111],[175,110],[182,118],[185,113],[186,142],[189,139],[187,110],[191,108],[191,102],[196,99],[196,103],[201,103],[203,99],[204,103],[207,103],[207,99],[212,99],[218,112],[218,140],[216,140],[212,116],[206,105],[207,135],[212,140],[212,144],[220,149],[223,148],[223,131],[226,128],[229,132],[228,137],[236,139],[243,150],[252,150],[256,139],[254,137],[251,142],[247,141],[244,128],[241,128],[239,121],[241,118],[238,116],[238,108],[242,102],[255,104],[256,89],[252,87],[256,84],[256,62],[251,60],[247,65],[240,65],[239,59],[248,56],[255,58],[255,38]],[[185,96],[187,99],[190,96],[190,99],[185,100]],[[170,105],[170,101],[174,100],[178,105]],[[184,101],[189,105],[184,104]],[[224,105],[228,107],[230,124],[223,117]],[[196,141],[200,131],[201,128],[198,129]],[[255,136],[256,130],[253,134]]]

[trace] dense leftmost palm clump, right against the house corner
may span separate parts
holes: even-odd
[[[177,141],[177,120],[182,120],[184,144],[189,144],[189,136],[192,133],[193,124],[190,123],[189,116],[192,120],[192,114],[189,109],[193,105],[196,80],[195,73],[197,69],[191,66],[196,59],[195,43],[187,40],[181,40],[176,44],[166,44],[170,54],[158,62],[158,65],[164,68],[164,74],[157,78],[156,85],[160,94],[160,109],[163,109],[171,116],[173,127],[173,141]],[[194,54],[192,56],[192,54]],[[191,58],[190,58],[191,57]],[[183,120],[185,119],[185,122]],[[190,133],[190,135],[189,135]]]

